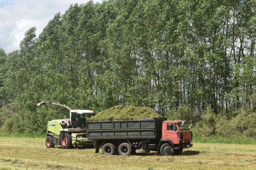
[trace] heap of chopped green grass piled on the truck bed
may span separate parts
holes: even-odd
[[[87,119],[89,121],[97,120],[131,120],[138,118],[162,118],[161,115],[157,114],[154,109],[150,107],[140,106],[114,106],[105,111],[97,113],[95,116]]]

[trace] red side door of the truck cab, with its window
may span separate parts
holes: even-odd
[[[162,127],[162,138],[169,139],[174,144],[180,143],[179,132],[177,133],[177,126],[174,123],[163,123]]]

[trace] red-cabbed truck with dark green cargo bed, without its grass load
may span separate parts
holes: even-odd
[[[179,155],[193,146],[192,132],[186,121],[166,118],[88,121],[88,139],[95,142],[95,153],[130,155],[157,151],[162,155]]]

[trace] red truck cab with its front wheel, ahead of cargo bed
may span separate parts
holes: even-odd
[[[163,155],[180,154],[183,149],[193,147],[192,132],[186,121],[172,120],[162,122],[162,137],[159,151]]]

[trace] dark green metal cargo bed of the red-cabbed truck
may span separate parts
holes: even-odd
[[[88,138],[100,139],[152,139],[161,137],[162,121],[166,118],[87,122]]]

